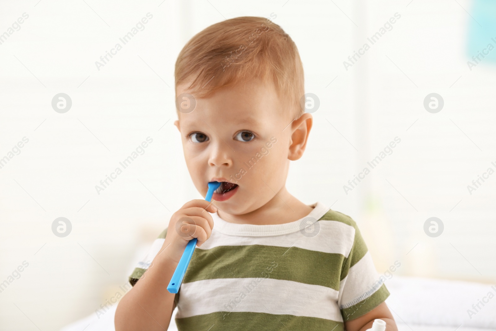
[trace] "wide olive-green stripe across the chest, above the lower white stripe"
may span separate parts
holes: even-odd
[[[273,278],[320,285],[339,291],[344,256],[298,247],[265,245],[196,249],[183,283],[216,278]]]

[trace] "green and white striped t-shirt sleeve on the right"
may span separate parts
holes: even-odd
[[[389,296],[385,277],[377,273],[356,222],[348,219],[355,229],[353,246],[343,261],[339,283],[338,305],[343,321],[351,321],[370,312]]]

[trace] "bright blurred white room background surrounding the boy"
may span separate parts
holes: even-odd
[[[495,2],[2,1],[0,330],[59,330],[95,316],[125,293],[172,213],[202,199],[173,125],[174,65],[194,34],[237,16],[271,18],[291,36],[306,92],[319,100],[289,192],[355,219],[379,274],[398,261],[391,277],[489,291]]]

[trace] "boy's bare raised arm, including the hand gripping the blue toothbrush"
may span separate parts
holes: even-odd
[[[216,211],[210,201],[194,199],[172,215],[168,229],[176,231],[168,233],[165,229],[157,238],[164,239],[162,247],[117,305],[114,318],[116,331],[162,331],[169,327],[177,294],[169,293],[167,286],[189,241],[196,238],[196,246],[199,247],[210,237],[214,221],[209,212]],[[145,262],[148,261],[147,256]]]

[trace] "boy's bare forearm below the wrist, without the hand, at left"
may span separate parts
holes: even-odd
[[[153,259],[139,281],[119,302],[114,319],[116,331],[167,330],[176,295],[169,293],[167,286],[177,265],[178,262],[167,254],[159,253]]]

